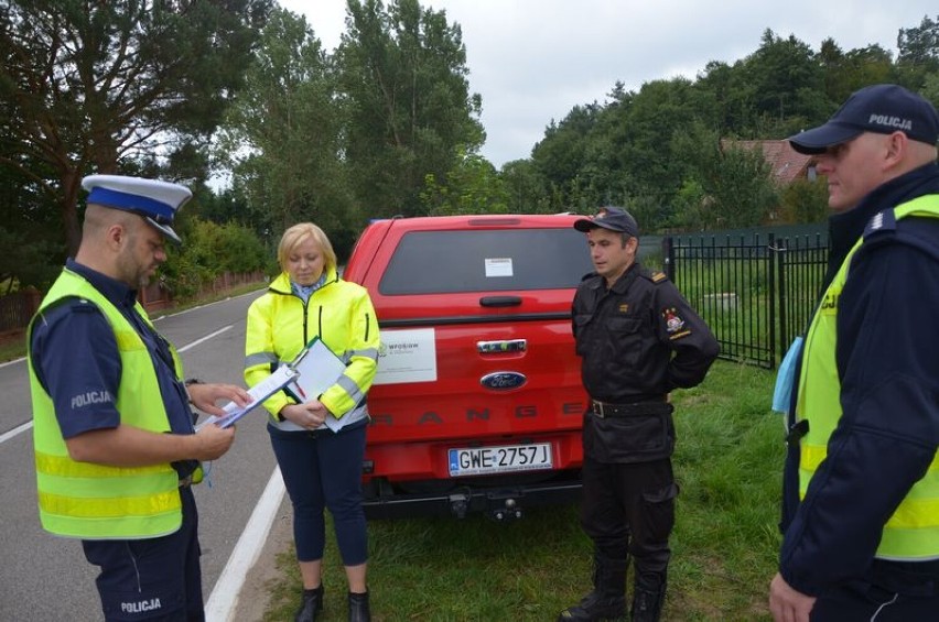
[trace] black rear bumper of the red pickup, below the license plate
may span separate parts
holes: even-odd
[[[483,513],[496,521],[521,519],[526,508],[575,503],[581,498],[580,472],[563,479],[496,488],[457,485],[445,492],[400,492],[387,482],[370,482],[365,491],[369,520],[452,516]]]

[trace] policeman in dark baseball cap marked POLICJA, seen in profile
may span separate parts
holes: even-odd
[[[790,383],[769,610],[939,620],[939,111],[871,85],[788,141],[813,156],[831,215]]]

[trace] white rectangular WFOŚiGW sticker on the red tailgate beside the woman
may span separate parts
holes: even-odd
[[[436,341],[433,328],[381,331],[378,369],[373,384],[435,380]]]

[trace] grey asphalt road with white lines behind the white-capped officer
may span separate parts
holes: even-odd
[[[244,384],[245,316],[260,292],[159,317],[160,332],[181,350],[185,374]],[[96,568],[78,541],[39,523],[32,414],[24,360],[0,367],[0,620],[101,620]],[[208,602],[276,468],[265,413],[238,423],[231,450],[195,488]]]

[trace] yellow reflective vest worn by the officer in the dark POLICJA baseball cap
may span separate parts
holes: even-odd
[[[894,209],[897,220],[908,216],[939,218],[939,195],[926,195]],[[864,239],[857,240],[824,293],[806,336],[796,417],[809,419],[801,439],[799,495],[824,460],[828,441],[841,418],[841,382],[835,362],[838,303],[848,280],[851,260]],[[939,455],[926,476],[907,493],[884,525],[876,557],[915,560],[939,557]]]

